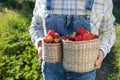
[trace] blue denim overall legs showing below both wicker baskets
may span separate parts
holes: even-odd
[[[44,80],[95,80],[96,70],[89,72],[71,72],[63,68],[61,62],[59,63],[42,63],[42,73]]]

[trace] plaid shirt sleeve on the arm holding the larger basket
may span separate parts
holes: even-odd
[[[116,40],[116,32],[114,27],[115,17],[113,15],[112,0],[105,0],[104,16],[99,30],[100,50],[104,52],[104,57],[110,52]]]

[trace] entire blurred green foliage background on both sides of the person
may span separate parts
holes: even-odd
[[[120,80],[120,1],[113,0],[117,40],[96,80]],[[35,0],[0,0],[0,80],[43,80],[28,28]]]

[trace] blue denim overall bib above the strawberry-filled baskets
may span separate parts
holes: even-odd
[[[55,30],[61,36],[70,35],[73,31],[76,31],[79,27],[91,31],[90,19],[87,15],[76,16],[76,15],[59,15],[50,14],[46,17],[46,29]]]

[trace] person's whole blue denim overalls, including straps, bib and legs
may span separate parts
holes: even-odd
[[[93,6],[93,0],[86,0],[85,9],[90,11]],[[46,0],[46,9],[51,10],[51,0]],[[47,31],[55,30],[61,36],[68,36],[79,27],[91,31],[90,14],[86,15],[65,15],[65,14],[49,14],[45,18],[45,26]],[[95,80],[96,71],[76,73],[67,71],[63,68],[61,62],[48,63],[42,62],[42,73],[45,80]]]

